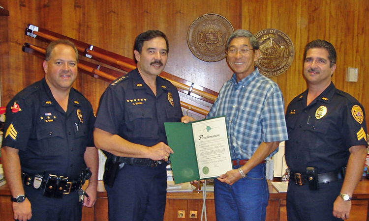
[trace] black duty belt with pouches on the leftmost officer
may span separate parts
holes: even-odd
[[[49,174],[47,177],[22,173],[23,184],[33,189],[42,189],[58,192],[60,194],[69,194],[79,189],[81,181],[68,180],[68,177]]]

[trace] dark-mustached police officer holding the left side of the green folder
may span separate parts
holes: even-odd
[[[162,221],[166,201],[167,145],[164,122],[180,122],[177,88],[158,77],[168,58],[164,33],[149,30],[137,36],[137,69],[108,86],[100,99],[94,129],[96,147],[119,157],[114,183],[108,184],[110,221]],[[123,166],[123,167],[122,167]]]

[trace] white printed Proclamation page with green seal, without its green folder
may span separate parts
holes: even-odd
[[[218,177],[233,169],[225,117],[192,123],[200,179]]]

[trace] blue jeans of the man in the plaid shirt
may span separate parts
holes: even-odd
[[[214,199],[217,221],[265,221],[269,199],[265,164],[255,166],[233,185],[214,179]]]

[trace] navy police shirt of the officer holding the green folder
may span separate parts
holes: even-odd
[[[111,83],[101,96],[95,127],[129,142],[168,144],[164,122],[181,122],[177,88],[156,78],[156,96],[137,69]]]

